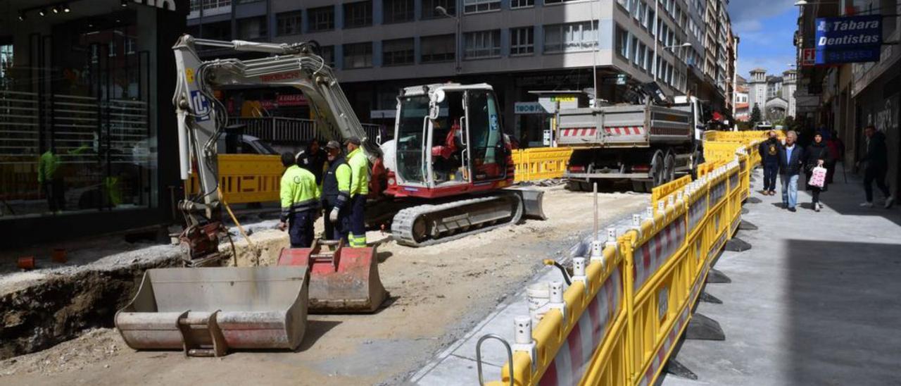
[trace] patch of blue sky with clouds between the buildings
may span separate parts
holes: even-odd
[[[729,15],[738,34],[738,73],[749,78],[755,68],[782,75],[795,63],[792,38],[797,29],[795,0],[732,0]]]

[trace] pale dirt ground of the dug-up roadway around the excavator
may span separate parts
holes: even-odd
[[[136,352],[124,345],[114,329],[95,329],[48,350],[0,362],[0,383],[399,383],[519,289],[542,269],[542,259],[560,259],[591,230],[589,193],[560,186],[543,189],[547,221],[529,220],[418,249],[381,244],[378,269],[391,292],[387,307],[373,315],[311,315],[304,343],[296,353],[186,358],[180,352]],[[601,225],[639,212],[647,203],[647,195],[602,194]],[[370,232],[368,236],[372,241],[387,234]],[[251,239],[284,243],[284,234],[259,230]],[[270,252],[264,255],[277,249],[278,245],[269,244]]]

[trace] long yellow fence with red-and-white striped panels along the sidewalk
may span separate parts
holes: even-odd
[[[746,155],[716,160],[699,177],[660,190],[656,210],[624,234],[573,259],[572,284],[524,335],[517,319],[502,380],[515,385],[651,385],[691,320],[707,273],[739,222]],[[665,194],[664,193],[669,193]],[[649,208],[650,209],[650,208]],[[525,336],[523,338],[523,335]],[[533,347],[533,349],[532,349]]]

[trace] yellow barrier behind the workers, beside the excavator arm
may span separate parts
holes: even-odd
[[[278,189],[285,167],[278,155],[219,154],[219,189],[225,202],[278,201]],[[199,179],[191,175],[191,194],[197,194]]]

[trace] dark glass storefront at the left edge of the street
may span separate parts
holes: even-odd
[[[187,0],[0,0],[0,247],[171,218],[186,15]]]

